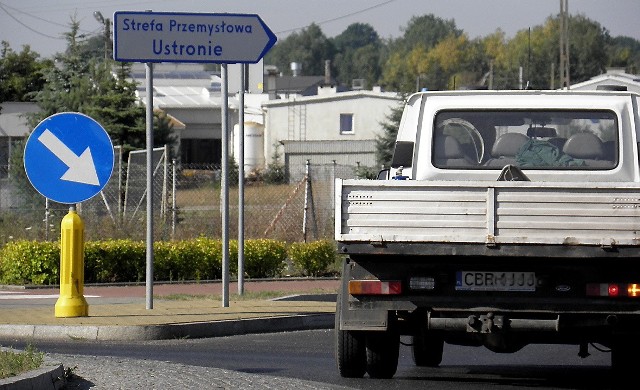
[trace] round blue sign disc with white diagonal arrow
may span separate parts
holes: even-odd
[[[79,203],[104,188],[113,172],[113,144],[91,117],[63,112],[33,129],[24,148],[24,169],[42,196]]]

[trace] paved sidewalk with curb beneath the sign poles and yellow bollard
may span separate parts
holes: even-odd
[[[144,285],[85,286],[89,315],[70,318],[55,317],[59,290],[5,286],[0,288],[0,337],[157,340],[328,328],[333,326],[338,283],[335,279],[245,281],[245,293],[280,291],[284,296],[270,300],[234,300],[237,285],[230,283],[228,307],[219,298],[221,283],[158,284],[153,287],[151,309]],[[179,296],[199,298],[175,299]]]

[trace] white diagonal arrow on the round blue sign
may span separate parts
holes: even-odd
[[[40,134],[38,141],[55,154],[66,166],[69,167],[67,172],[62,175],[62,180],[74,181],[76,183],[100,185],[96,166],[91,157],[91,149],[87,147],[80,156],[76,156],[71,149],[67,147],[58,137],[49,129]]]

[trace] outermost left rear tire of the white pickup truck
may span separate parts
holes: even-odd
[[[340,330],[342,297],[336,300],[335,354],[338,372],[343,378],[362,378],[366,372],[366,349],[364,333]]]

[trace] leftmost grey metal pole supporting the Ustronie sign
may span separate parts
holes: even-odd
[[[145,64],[147,76],[147,309],[153,309],[153,63]]]

